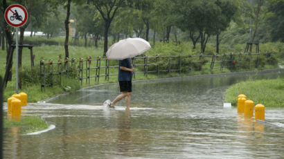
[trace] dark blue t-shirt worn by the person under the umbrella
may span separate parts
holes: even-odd
[[[132,72],[121,70],[121,66],[124,66],[126,68],[132,68],[130,58],[119,60],[118,81],[131,81]]]

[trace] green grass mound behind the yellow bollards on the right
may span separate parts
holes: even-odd
[[[254,104],[284,108],[284,79],[261,79],[234,84],[227,89],[224,102],[231,102],[236,106],[240,94],[247,95],[247,99],[254,101]]]

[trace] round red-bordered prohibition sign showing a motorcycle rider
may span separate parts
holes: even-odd
[[[23,6],[12,4],[5,10],[5,20],[10,26],[23,26],[28,20],[28,12]]]

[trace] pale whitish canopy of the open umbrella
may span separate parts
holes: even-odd
[[[107,50],[107,59],[126,59],[141,55],[151,48],[148,41],[141,38],[127,38],[118,41]]]

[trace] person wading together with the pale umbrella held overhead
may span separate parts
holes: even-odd
[[[107,50],[107,59],[119,59],[118,82],[121,88],[121,95],[114,101],[106,100],[105,106],[114,107],[116,102],[126,98],[126,107],[129,108],[132,93],[132,73],[134,68],[131,66],[130,57],[141,55],[151,48],[148,41],[141,38],[128,38],[118,41]]]

